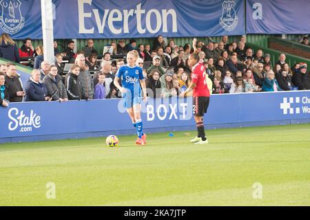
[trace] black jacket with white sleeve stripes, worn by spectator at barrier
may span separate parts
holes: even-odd
[[[76,74],[68,72],[65,75],[65,89],[68,93],[68,99],[70,100],[80,100],[82,97],[82,86]]]

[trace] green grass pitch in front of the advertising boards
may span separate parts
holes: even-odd
[[[168,134],[1,144],[0,206],[310,206],[310,124]]]

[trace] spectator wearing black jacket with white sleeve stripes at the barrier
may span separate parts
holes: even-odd
[[[68,93],[69,100],[85,99],[82,93],[82,85],[78,79],[80,67],[76,64],[72,65],[65,77],[65,89]]]

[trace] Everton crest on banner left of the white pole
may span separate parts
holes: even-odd
[[[23,28],[25,18],[21,15],[21,1],[1,0],[0,27],[8,34],[15,34]]]

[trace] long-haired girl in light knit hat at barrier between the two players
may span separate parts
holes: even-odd
[[[161,97],[175,97],[177,95],[174,89],[174,82],[172,77],[174,76],[174,70],[167,70],[166,74],[163,74],[159,81],[161,81]]]

